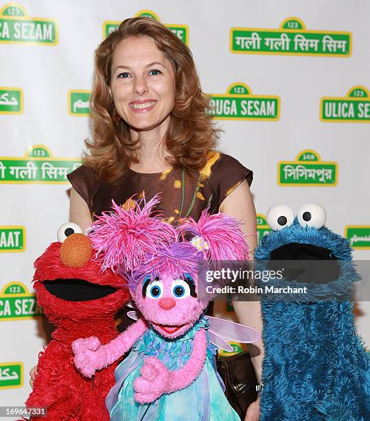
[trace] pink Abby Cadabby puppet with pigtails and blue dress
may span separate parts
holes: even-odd
[[[95,337],[75,341],[76,367],[91,377],[131,348],[106,398],[113,421],[239,420],[224,396],[213,344],[228,349],[223,338],[251,343],[259,334],[204,315],[198,261],[246,259],[246,241],[238,222],[223,214],[204,211],[197,223],[183,219],[174,228],[151,215],[158,202],[128,210],[113,203],[91,227],[102,268],[128,279],[139,318],[106,345]]]

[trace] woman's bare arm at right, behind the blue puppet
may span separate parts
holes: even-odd
[[[242,222],[243,234],[249,247],[250,259],[253,259],[253,251],[257,246],[257,218],[253,197],[249,190],[248,183],[244,180],[239,184],[220,205],[220,212],[235,217]],[[233,307],[240,323],[251,326],[262,334],[262,315],[259,301],[233,301]],[[261,381],[262,358],[264,356],[264,345],[262,336],[259,341],[248,345],[257,381]],[[256,402],[253,402],[255,404]],[[258,419],[259,410],[250,405],[247,411],[246,420]]]

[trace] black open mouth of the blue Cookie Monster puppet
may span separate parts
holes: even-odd
[[[284,278],[288,281],[329,283],[340,277],[340,264],[329,248],[288,243],[271,252],[269,270],[276,270],[276,261],[288,261],[284,262]]]

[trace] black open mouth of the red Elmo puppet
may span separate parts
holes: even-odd
[[[110,285],[100,285],[83,279],[54,279],[43,281],[51,295],[65,301],[91,301],[103,298],[117,291]]]

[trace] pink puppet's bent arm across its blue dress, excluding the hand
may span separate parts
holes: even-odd
[[[200,329],[194,338],[192,355],[187,363],[181,369],[170,371],[167,393],[184,389],[194,382],[205,365],[207,345],[206,332],[204,329]]]

